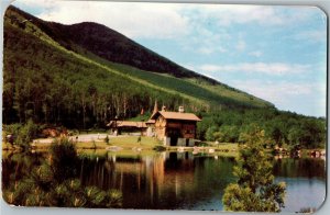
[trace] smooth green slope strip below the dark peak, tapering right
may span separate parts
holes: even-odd
[[[140,70],[130,66],[106,63],[111,68],[117,68],[130,77],[146,80],[155,86],[162,86],[165,89],[170,89],[179,94],[188,95],[207,102],[211,105],[224,108],[271,108],[272,104],[249,95],[242,91],[238,91],[224,84],[209,84],[199,79],[178,79],[172,76],[164,76],[151,71]]]

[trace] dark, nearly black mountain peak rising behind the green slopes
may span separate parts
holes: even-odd
[[[130,65],[147,71],[170,73],[178,78],[200,78],[210,83],[217,83],[216,80],[188,70],[105,25],[92,22],[64,25],[42,21],[15,8],[11,10],[23,14],[26,20],[31,20],[33,24],[67,49],[79,52],[82,47],[109,61]]]

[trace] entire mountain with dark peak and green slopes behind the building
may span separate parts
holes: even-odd
[[[64,25],[9,7],[3,33],[4,123],[94,126],[151,112],[155,101],[194,112],[274,109],[97,23]]]

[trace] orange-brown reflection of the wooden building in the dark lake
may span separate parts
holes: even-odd
[[[144,157],[108,154],[107,158],[81,168],[84,184],[103,190],[120,189],[128,201],[127,206],[136,202],[142,208],[143,205],[158,205],[164,197],[176,201],[194,185],[195,162],[188,152]]]

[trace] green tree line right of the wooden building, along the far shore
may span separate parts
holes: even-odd
[[[282,147],[304,148],[326,146],[326,118],[304,116],[275,109],[222,111],[204,114],[197,135],[201,139],[219,143],[241,143],[242,134],[257,125],[265,131],[266,142]]]

